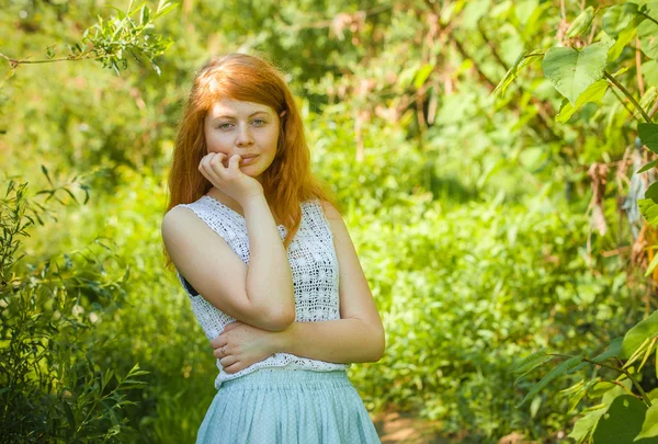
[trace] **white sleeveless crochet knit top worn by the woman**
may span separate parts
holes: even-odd
[[[242,262],[249,264],[247,223],[240,214],[208,195],[203,195],[191,204],[179,204],[177,206],[183,206],[194,212],[198,218],[228,243]],[[277,228],[283,242],[287,234],[286,228],[283,225]],[[340,319],[339,267],[333,247],[333,234],[318,200],[302,203],[299,229],[286,253],[293,275],[295,321],[314,322]],[[190,298],[192,310],[208,340],[217,337],[226,325],[236,320],[208,303],[178,271],[177,274]],[[351,364],[311,360],[291,353],[274,353],[240,372],[228,374],[217,360],[219,375],[215,379],[215,388],[218,389],[225,380],[264,367],[329,372],[347,369],[350,366]]]

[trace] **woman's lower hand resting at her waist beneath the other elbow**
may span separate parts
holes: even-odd
[[[224,371],[237,373],[272,355],[275,352],[274,335],[275,332],[235,321],[211,340],[211,345]]]

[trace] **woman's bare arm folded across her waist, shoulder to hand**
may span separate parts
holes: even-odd
[[[330,204],[322,203],[325,215],[333,234],[333,246],[339,263],[339,298],[340,317],[337,320],[317,322],[293,322],[283,331],[258,333],[254,327],[236,323],[236,329],[242,329],[245,338],[248,334],[260,337],[268,344],[270,354],[276,352],[292,353],[297,356],[333,363],[376,362],[382,358],[386,346],[384,327],[377,311],[377,306],[359,262],[356,250],[348,232],[340,213]],[[228,325],[225,332],[231,330]],[[231,333],[228,333],[231,334]],[[214,349],[232,342],[223,332],[211,344]],[[238,343],[237,339],[235,342]],[[243,342],[251,341],[245,339]],[[246,353],[245,353],[246,355]],[[217,350],[215,356],[222,357]],[[226,358],[227,363],[235,360],[245,361],[239,367],[260,356]],[[264,357],[263,357],[264,358]]]

